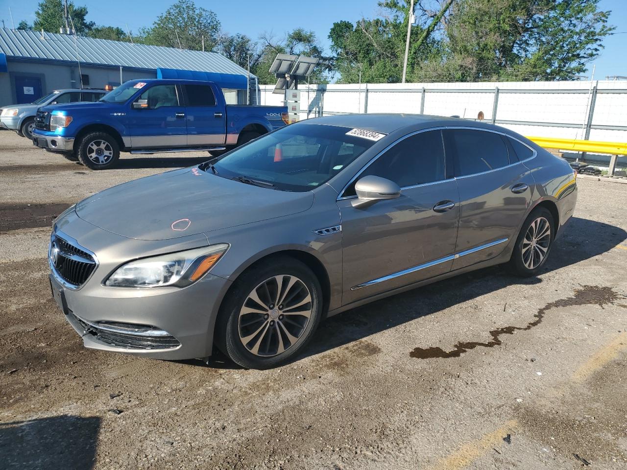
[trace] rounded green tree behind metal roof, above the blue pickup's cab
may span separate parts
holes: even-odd
[[[213,11],[197,7],[192,0],[178,0],[139,32],[142,41],[155,46],[212,51],[218,46],[220,22]]]

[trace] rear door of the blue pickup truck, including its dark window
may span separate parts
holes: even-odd
[[[224,145],[226,112],[221,91],[213,85],[181,85],[185,97],[187,145]]]

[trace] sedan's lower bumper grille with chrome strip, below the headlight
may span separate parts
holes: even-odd
[[[72,320],[85,330],[88,335],[102,343],[129,349],[171,349],[181,345],[179,341],[167,332],[156,330],[148,325],[134,325],[131,323],[109,323],[83,320],[70,313]]]

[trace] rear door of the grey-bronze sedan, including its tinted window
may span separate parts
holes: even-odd
[[[459,269],[497,256],[517,236],[534,179],[505,135],[477,128],[448,128],[444,134],[460,191],[453,262]]]

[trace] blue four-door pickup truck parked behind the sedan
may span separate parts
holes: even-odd
[[[120,152],[223,152],[287,123],[287,107],[227,105],[211,81],[130,80],[98,102],[41,107],[33,144],[103,170]]]

